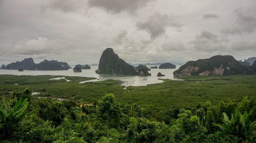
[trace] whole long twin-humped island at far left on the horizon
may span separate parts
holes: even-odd
[[[4,67],[4,68],[3,68]],[[66,62],[58,62],[56,60],[44,60],[39,64],[34,63],[32,58],[27,58],[21,62],[15,62],[8,65],[3,65],[2,69],[7,70],[69,70],[71,67]]]

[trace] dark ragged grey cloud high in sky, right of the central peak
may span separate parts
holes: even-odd
[[[167,27],[172,26],[178,28],[182,25],[175,20],[174,16],[156,12],[148,17],[148,19],[138,21],[136,26],[140,30],[147,31],[150,34],[151,39],[156,39],[166,32]]]

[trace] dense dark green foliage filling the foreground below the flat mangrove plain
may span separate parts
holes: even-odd
[[[31,97],[29,103],[28,97]],[[30,89],[3,99],[2,142],[254,142],[256,139],[255,103],[247,97],[239,102],[207,101],[187,109],[166,107],[161,111],[152,106],[120,104],[113,94],[89,105],[37,98]]]

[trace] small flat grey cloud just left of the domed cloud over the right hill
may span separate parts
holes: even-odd
[[[181,41],[172,41],[164,43],[161,48],[168,51],[181,51],[185,49],[185,45]]]

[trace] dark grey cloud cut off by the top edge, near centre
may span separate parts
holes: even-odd
[[[152,0],[88,0],[91,7],[99,7],[110,13],[120,13],[121,11],[135,12],[141,7],[145,7]]]

